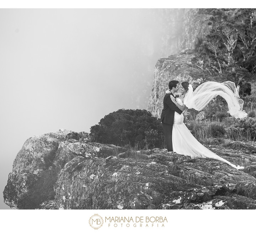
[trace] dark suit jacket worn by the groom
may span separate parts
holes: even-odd
[[[170,95],[174,96],[172,93],[171,94],[165,94],[164,96],[164,108],[162,110],[160,122],[173,125],[174,123],[174,113],[177,112],[178,114],[181,114],[182,111],[175,105],[174,102],[172,102]],[[175,97],[176,98],[176,97]]]

